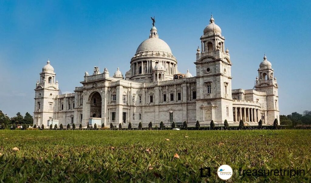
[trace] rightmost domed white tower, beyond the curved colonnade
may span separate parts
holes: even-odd
[[[278,84],[274,77],[274,70],[271,62],[267,60],[266,54],[263,61],[259,64],[258,77],[256,77],[256,91],[265,91],[267,93],[267,109],[265,110],[265,122],[273,124],[277,119],[280,123]]]

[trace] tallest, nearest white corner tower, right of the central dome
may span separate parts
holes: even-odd
[[[225,38],[215,24],[213,16],[200,38],[197,49],[197,120],[209,124],[211,120],[223,124],[233,123],[231,96],[231,61],[225,50]],[[200,52],[201,51],[201,52]]]

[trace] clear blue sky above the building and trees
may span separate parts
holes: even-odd
[[[310,1],[0,1],[0,110],[33,114],[49,58],[62,93],[94,66],[125,74],[156,16],[178,69],[195,75],[196,49],[211,12],[230,50],[232,89],[251,89],[266,53],[281,114],[311,110]]]

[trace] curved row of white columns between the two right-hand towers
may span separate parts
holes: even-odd
[[[247,107],[233,107],[234,121],[239,122],[240,120],[245,122],[259,122],[260,110],[255,108]]]

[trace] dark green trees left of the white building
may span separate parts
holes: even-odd
[[[7,114],[4,114],[2,110],[0,110],[0,125],[4,124],[4,126],[11,126],[12,124],[29,124],[33,125],[34,118],[28,112],[26,112],[25,116],[21,115],[20,112],[16,113],[16,116],[10,118]]]

